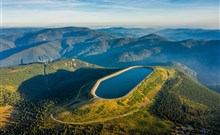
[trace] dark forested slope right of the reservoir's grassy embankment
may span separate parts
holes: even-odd
[[[150,112],[176,124],[192,125],[197,133],[219,132],[219,95],[208,90],[183,73],[166,82]],[[211,99],[211,100],[210,100]]]

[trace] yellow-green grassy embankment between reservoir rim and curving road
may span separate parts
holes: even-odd
[[[55,118],[67,123],[83,124],[104,122],[132,114],[152,102],[153,97],[162,88],[165,81],[173,76],[173,73],[173,69],[155,68],[155,71],[149,75],[148,79],[143,81],[128,96],[115,100],[94,97],[77,109],[74,109],[74,105],[67,106],[66,109],[68,111],[61,110],[60,112],[58,110],[55,113]]]

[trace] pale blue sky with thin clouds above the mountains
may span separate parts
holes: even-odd
[[[0,0],[3,27],[219,29],[219,0]]]

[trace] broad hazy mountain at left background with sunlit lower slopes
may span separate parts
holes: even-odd
[[[76,43],[111,39],[88,28],[66,27],[31,32],[15,39],[15,48],[1,52],[1,67],[63,58]],[[4,38],[3,38],[4,39]]]

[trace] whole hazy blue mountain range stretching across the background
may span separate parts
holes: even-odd
[[[153,31],[65,27],[5,34],[1,39],[0,67],[62,58],[79,58],[107,67],[177,61],[195,70],[203,84],[220,84],[220,40],[216,40],[219,30],[167,29],[149,34]],[[145,32],[149,35],[140,37]],[[167,38],[172,35],[176,39],[190,39],[173,41]]]

